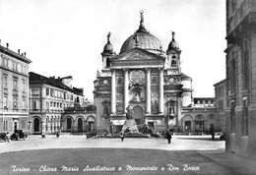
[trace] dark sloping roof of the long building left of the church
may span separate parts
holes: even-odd
[[[74,92],[75,94],[83,95],[83,88],[68,87],[64,85],[61,79],[47,78],[39,74],[30,72],[30,84],[46,84],[52,87],[59,87]]]

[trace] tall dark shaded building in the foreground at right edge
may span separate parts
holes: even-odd
[[[256,1],[226,0],[226,151],[256,157]]]

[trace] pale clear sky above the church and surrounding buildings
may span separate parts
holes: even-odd
[[[72,76],[73,86],[93,99],[108,31],[119,53],[139,28],[141,10],[164,51],[175,31],[193,96],[214,97],[214,84],[225,78],[224,0],[0,0],[1,45],[27,52],[31,72]]]

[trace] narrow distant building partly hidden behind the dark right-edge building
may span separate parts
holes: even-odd
[[[220,127],[218,130],[225,133],[225,115],[224,109],[226,104],[225,80],[214,85],[216,96],[216,123]]]

